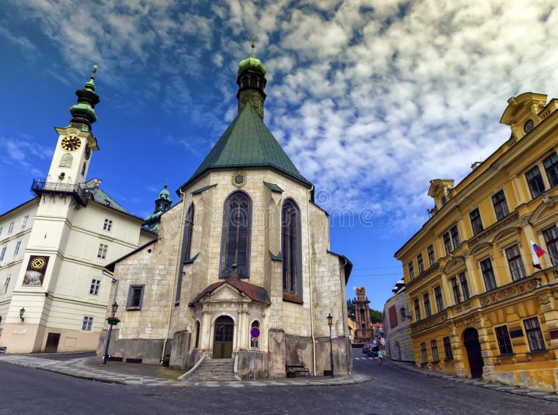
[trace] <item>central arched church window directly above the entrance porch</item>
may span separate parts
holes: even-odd
[[[249,277],[251,227],[252,201],[247,193],[238,190],[227,197],[223,206],[221,278],[228,278],[235,264],[240,278]]]

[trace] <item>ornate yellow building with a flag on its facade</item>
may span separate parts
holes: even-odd
[[[558,100],[546,98],[508,100],[511,137],[458,186],[430,181],[432,216],[395,252],[423,368],[557,391]]]

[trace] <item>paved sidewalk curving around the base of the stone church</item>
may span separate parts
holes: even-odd
[[[143,363],[122,363],[108,361],[106,365],[98,357],[86,357],[81,359],[73,359],[68,361],[58,361],[53,363],[55,356],[47,363],[40,365],[40,362],[33,365],[40,370],[48,370],[63,375],[80,377],[82,379],[91,379],[98,382],[117,383],[125,385],[142,385],[142,386],[232,386],[236,388],[257,386],[338,386],[360,384],[370,382],[372,377],[368,375],[352,375],[342,377],[297,377],[294,379],[257,379],[243,381],[179,381],[176,380],[183,375],[183,370],[174,370],[164,368],[159,365],[145,365]],[[54,359],[52,359],[54,358]],[[38,359],[36,360],[45,360]],[[29,360],[29,358],[28,358]],[[15,363],[15,362],[13,362]],[[17,363],[22,364],[22,363]],[[31,365],[31,363],[29,363]]]

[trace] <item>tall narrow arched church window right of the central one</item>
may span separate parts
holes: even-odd
[[[301,214],[292,199],[287,199],[281,213],[281,254],[283,257],[283,292],[302,299]]]

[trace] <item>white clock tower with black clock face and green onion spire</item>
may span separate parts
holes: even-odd
[[[75,91],[77,104],[70,107],[72,119],[68,126],[56,127],[59,137],[47,182],[73,185],[86,181],[91,153],[99,149],[97,139],[91,133],[91,124],[97,121],[94,108],[100,101],[95,93],[96,71],[97,66],[94,65],[84,89]]]

